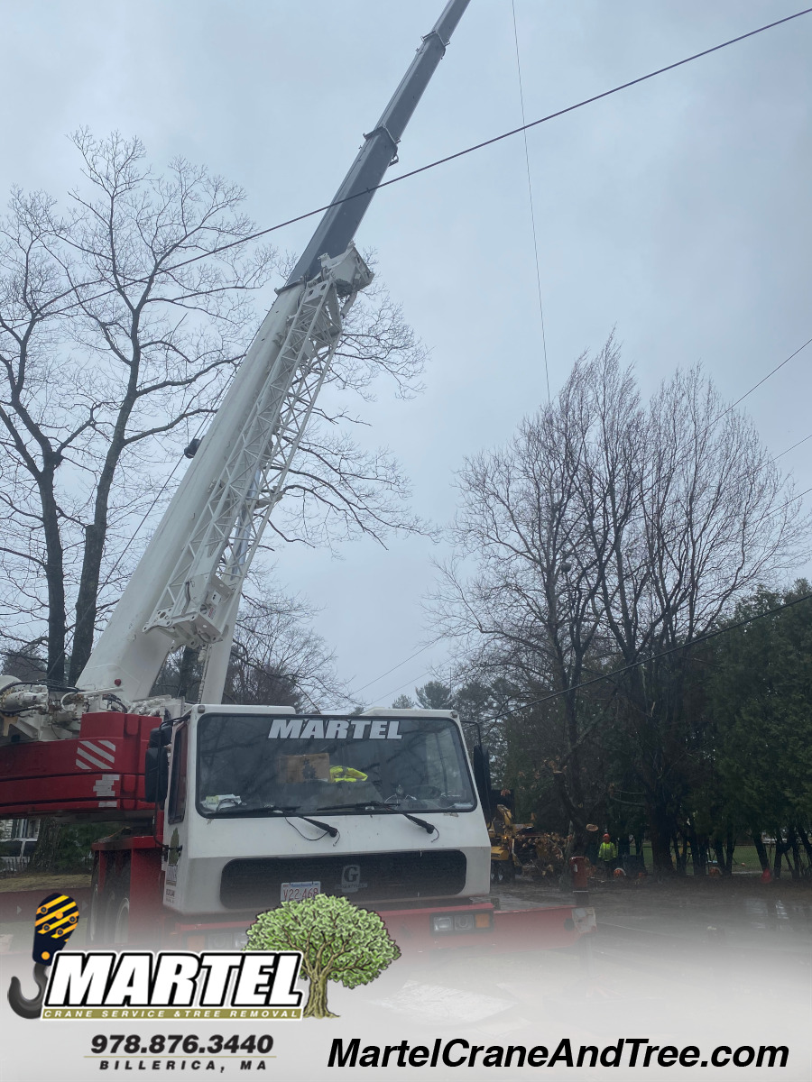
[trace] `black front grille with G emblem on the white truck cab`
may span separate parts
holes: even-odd
[[[220,900],[226,909],[273,909],[283,883],[306,881],[358,902],[447,898],[461,893],[466,871],[464,854],[442,849],[232,860],[223,869]]]

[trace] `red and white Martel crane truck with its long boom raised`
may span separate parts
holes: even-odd
[[[118,821],[94,843],[93,945],[231,949],[318,893],[381,913],[402,951],[555,947],[591,911],[488,900],[487,755],[454,711],[298,714],[222,702],[241,586],[342,320],[353,238],[468,0],[450,0],[277,293],[77,683],[0,677],[0,816]],[[156,698],[171,650],[199,702]]]

